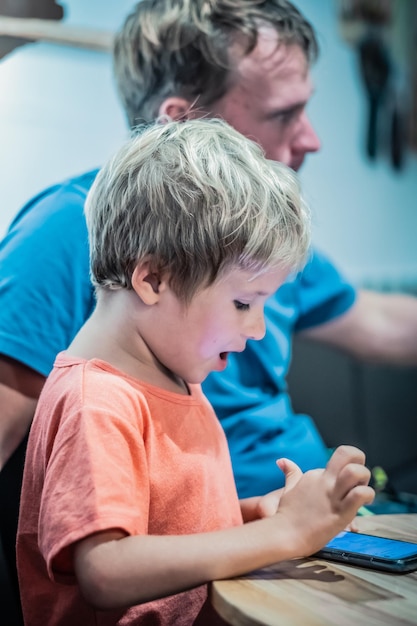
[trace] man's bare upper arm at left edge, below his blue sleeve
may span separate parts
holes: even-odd
[[[45,377],[0,354],[0,470],[23,440]]]

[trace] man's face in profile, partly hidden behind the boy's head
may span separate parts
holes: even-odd
[[[255,140],[267,158],[298,170],[305,155],[320,148],[305,111],[313,87],[301,48],[276,42],[272,29],[260,32],[256,48],[238,64],[234,85],[209,114]]]

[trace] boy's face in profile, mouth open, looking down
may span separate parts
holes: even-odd
[[[166,288],[153,311],[157,332],[148,345],[154,357],[188,383],[223,370],[229,352],[244,350],[248,339],[262,339],[265,301],[286,276],[284,270],[255,277],[233,269],[186,307]]]

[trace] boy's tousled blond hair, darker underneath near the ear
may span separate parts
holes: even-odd
[[[145,128],[97,175],[86,217],[96,286],[130,289],[149,259],[184,302],[232,267],[296,269],[309,245],[295,174],[219,119]]]

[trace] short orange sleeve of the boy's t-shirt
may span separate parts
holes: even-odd
[[[145,534],[148,528],[147,458],[139,436],[146,402],[139,406],[123,386],[110,392],[101,384],[95,393],[84,394],[73,409],[64,400],[66,414],[48,458],[39,546],[52,577],[72,573],[72,546],[88,535],[115,528]]]

